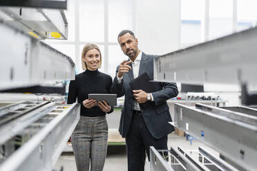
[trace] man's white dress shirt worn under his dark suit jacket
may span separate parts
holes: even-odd
[[[131,61],[131,64],[132,64],[134,79],[138,77],[139,70],[140,70],[141,58],[142,58],[142,51],[140,50],[140,53],[137,55],[135,61],[131,61],[130,58],[128,59],[129,61]],[[121,83],[122,79],[123,79],[123,77],[122,78],[117,77],[118,83]],[[150,93],[150,95],[151,95],[151,101],[153,101],[153,95],[151,93]],[[137,103],[136,99],[134,99],[133,110],[140,110],[140,105],[139,105],[139,103]]]

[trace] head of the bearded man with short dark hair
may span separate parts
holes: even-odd
[[[135,55],[138,51],[137,39],[135,39],[131,34],[127,32],[126,34],[123,34],[121,37],[119,37],[118,41],[124,54],[126,54],[126,56],[128,56],[130,59],[135,59]]]

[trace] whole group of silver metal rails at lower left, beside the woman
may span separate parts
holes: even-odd
[[[80,105],[1,105],[0,170],[52,170],[77,125]]]

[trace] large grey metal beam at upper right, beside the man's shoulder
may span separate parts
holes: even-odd
[[[257,28],[237,32],[154,60],[154,81],[256,84]]]

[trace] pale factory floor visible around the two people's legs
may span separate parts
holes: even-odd
[[[198,146],[203,146],[200,141],[193,139],[192,145],[190,145],[190,141],[186,140],[186,137],[179,137],[175,133],[169,134],[168,139],[168,148],[178,147],[180,145],[184,150],[193,150],[198,149]],[[209,148],[208,148],[209,149]],[[213,151],[213,153],[216,153]],[[55,165],[55,170],[59,170],[61,166],[64,167],[64,171],[76,171],[76,164],[74,155],[72,153],[63,153],[59,157]],[[107,151],[107,157],[104,164],[104,171],[125,171],[127,170],[127,158],[126,158],[126,146],[125,145],[109,145]],[[149,170],[149,162],[146,160],[145,170]]]

